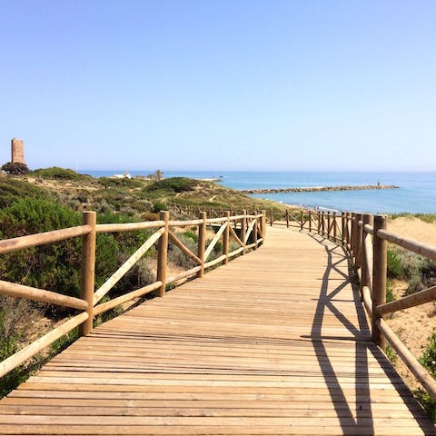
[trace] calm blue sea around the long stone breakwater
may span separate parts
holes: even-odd
[[[83,170],[94,177],[111,176],[126,170]],[[129,171],[147,175],[153,170]],[[337,212],[362,213],[436,213],[436,172],[431,173],[343,173],[343,172],[237,172],[237,171],[163,171],[164,177],[220,179],[233,189],[290,188],[385,184],[399,189],[365,191],[326,191],[309,193],[253,194],[279,203],[320,208]]]

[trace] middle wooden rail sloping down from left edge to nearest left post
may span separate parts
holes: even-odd
[[[25,286],[24,284],[5,282],[0,280],[0,295],[18,297],[31,300],[33,302],[47,302],[61,307],[86,311],[88,303],[80,298],[69,297],[62,293],[45,291],[43,289]]]

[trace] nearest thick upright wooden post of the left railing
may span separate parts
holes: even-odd
[[[80,297],[88,303],[88,319],[80,324],[79,334],[85,336],[93,331],[94,320],[94,277],[95,277],[95,226],[97,214],[91,211],[83,213],[83,223],[91,226],[91,232],[82,236],[82,265]]]

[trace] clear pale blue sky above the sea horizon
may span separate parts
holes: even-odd
[[[0,163],[436,169],[434,0],[0,6]]]

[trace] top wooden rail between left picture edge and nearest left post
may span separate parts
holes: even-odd
[[[59,243],[90,232],[91,226],[78,225],[77,227],[69,227],[67,229],[5,239],[4,241],[0,241],[0,254],[16,252],[30,247],[37,247],[38,245],[45,245],[45,243]]]

